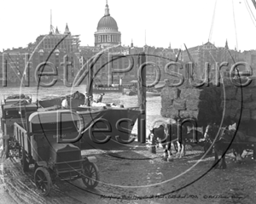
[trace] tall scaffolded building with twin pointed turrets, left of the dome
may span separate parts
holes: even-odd
[[[67,55],[67,61],[71,62],[67,67],[68,73],[74,77],[79,71],[79,42],[79,35],[73,36],[66,25],[64,33],[61,34],[56,28],[55,31],[50,31],[49,35],[37,37],[36,42],[28,45],[28,49],[33,55],[33,65],[49,61],[57,68],[58,77],[63,79],[64,67],[61,62],[64,61],[65,55]]]

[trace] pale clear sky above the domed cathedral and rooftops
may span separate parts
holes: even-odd
[[[256,20],[251,0],[217,0],[210,42],[238,50],[256,49]],[[206,43],[212,25],[216,0],[108,0],[110,15],[117,21],[122,45],[167,48],[195,47]],[[66,23],[73,35],[80,35],[80,45],[94,46],[94,32],[105,12],[106,0],[9,0],[1,2],[0,50],[26,47],[39,35],[49,33],[52,25],[59,31]],[[234,24],[234,14],[236,29]],[[253,18],[253,17],[252,17]],[[236,40],[237,39],[237,40]]]

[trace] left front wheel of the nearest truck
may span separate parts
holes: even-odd
[[[41,195],[49,195],[49,190],[52,186],[49,171],[45,167],[38,167],[35,172],[35,183],[40,190]]]

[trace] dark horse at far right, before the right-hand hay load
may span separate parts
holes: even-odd
[[[231,144],[233,137],[235,136],[236,131],[235,130],[228,130],[225,127],[219,128],[216,124],[209,124],[207,125],[206,132],[205,132],[205,138],[209,139],[211,143],[213,143],[213,149],[214,149],[214,156],[215,160],[213,162],[212,167],[217,168],[218,165],[218,154],[219,151],[222,152],[221,161],[219,164],[219,168],[225,169],[227,167],[226,161],[225,161],[225,152],[228,148],[233,149],[236,151],[236,161],[241,161],[241,154],[243,151],[243,148],[241,144],[241,138],[235,137],[233,142],[234,144]]]

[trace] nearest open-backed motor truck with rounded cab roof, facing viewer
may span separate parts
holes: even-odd
[[[55,180],[82,178],[87,188],[95,188],[99,171],[95,156],[82,156],[72,139],[83,130],[82,118],[73,111],[34,112],[27,122],[15,122],[14,136],[23,171],[34,165],[35,184],[42,195],[49,195]]]

